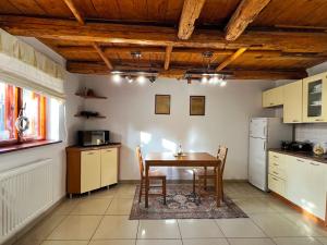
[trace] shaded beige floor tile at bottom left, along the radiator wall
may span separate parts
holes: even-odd
[[[53,229],[63,221],[65,216],[48,216],[40,221],[36,226],[34,226],[27,234],[20,237],[16,244],[39,244],[45,240]]]

